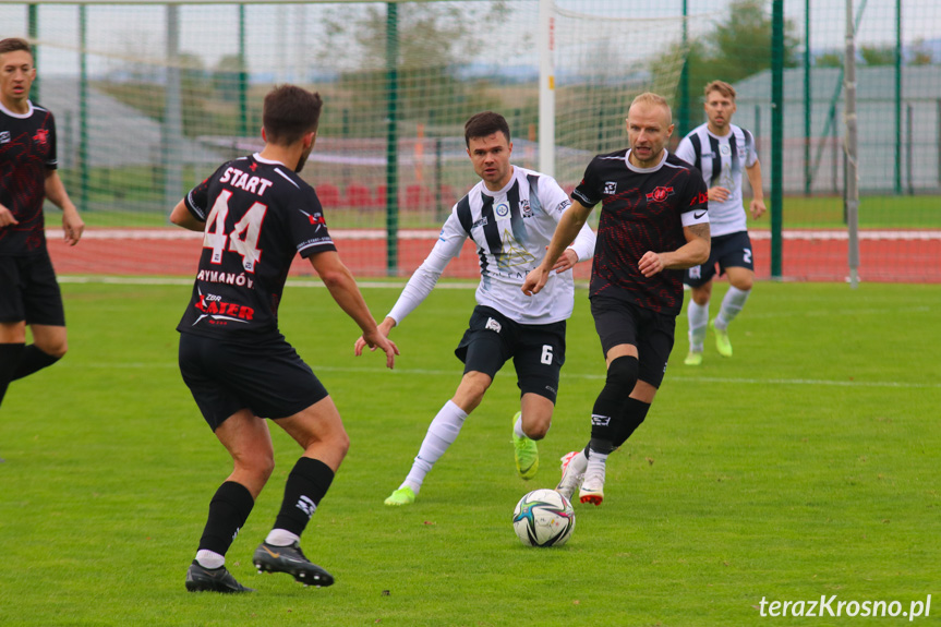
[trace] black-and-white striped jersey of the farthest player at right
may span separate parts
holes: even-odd
[[[725,188],[725,202],[709,201],[709,224],[712,237],[748,230],[741,197],[741,171],[758,161],[755,137],[750,132],[728,125],[724,137],[714,135],[707,124],[689,132],[676,148],[676,156],[702,172],[709,188]]]

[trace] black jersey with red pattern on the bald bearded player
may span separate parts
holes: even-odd
[[[644,277],[638,263],[648,251],[675,251],[686,243],[681,215],[705,210],[705,183],[689,164],[668,155],[654,171],[627,167],[627,150],[592,159],[574,196],[602,204],[590,294],[604,294],[655,312],[678,314],[683,272]]]

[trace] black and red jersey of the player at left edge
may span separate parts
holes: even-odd
[[[43,202],[46,176],[56,169],[56,121],[33,106],[26,118],[0,109],[0,204],[20,222],[0,228],[0,255],[46,250]]]

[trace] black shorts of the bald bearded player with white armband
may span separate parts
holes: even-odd
[[[673,350],[676,316],[606,297],[591,298],[591,315],[604,354],[617,345],[637,347],[637,378],[659,388]]]

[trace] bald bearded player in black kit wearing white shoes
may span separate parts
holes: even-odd
[[[683,308],[681,270],[709,258],[707,190],[696,168],[667,153],[666,100],[646,93],[627,114],[630,148],[596,156],[572,192],[542,264],[523,284],[538,293],[591,209],[602,204],[591,270],[591,314],[607,377],[591,412],[591,438],[563,457],[566,497],[601,505],[607,456],[643,422],[663,382]]]

